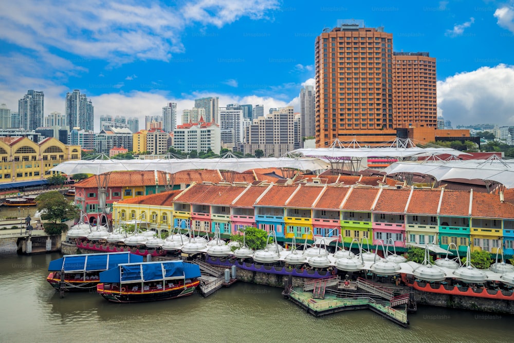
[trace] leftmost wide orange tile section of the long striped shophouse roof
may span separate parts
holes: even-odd
[[[245,187],[197,184],[188,188],[175,201],[229,206],[244,190]]]

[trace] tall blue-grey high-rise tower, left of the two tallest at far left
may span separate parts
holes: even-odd
[[[18,113],[21,126],[27,130],[34,130],[43,126],[45,117],[45,94],[42,91],[29,90],[18,101]]]

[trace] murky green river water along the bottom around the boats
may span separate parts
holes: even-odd
[[[58,253],[0,247],[1,342],[508,342],[514,316],[418,307],[405,329],[369,310],[315,318],[281,289],[235,283],[149,303],[115,304],[93,292],[55,294],[45,280]]]

